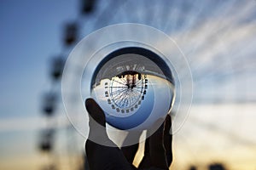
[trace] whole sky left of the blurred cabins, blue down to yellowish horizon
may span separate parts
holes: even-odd
[[[73,1],[0,2],[1,168],[25,153],[38,153],[34,127],[40,119],[35,117],[41,116],[40,97],[49,90],[49,60],[61,54],[61,26],[76,17],[76,7]]]

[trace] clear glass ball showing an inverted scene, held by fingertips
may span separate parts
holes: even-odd
[[[147,129],[171,110],[172,72],[159,54],[147,48],[119,48],[94,71],[91,96],[108,124],[119,129]]]

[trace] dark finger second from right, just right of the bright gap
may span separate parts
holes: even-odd
[[[149,155],[151,165],[162,169],[168,169],[166,161],[166,150],[164,146],[164,126],[165,122],[159,119],[156,123],[160,127],[149,138]]]

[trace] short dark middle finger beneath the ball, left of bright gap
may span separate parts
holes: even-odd
[[[129,161],[131,164],[134,160],[134,157],[137,153],[138,146],[139,146],[139,138],[142,132],[130,132],[125,138],[125,141],[123,143],[123,147],[121,147],[121,150],[123,151],[123,154],[127,161]],[[132,142],[136,142],[136,144],[128,145]]]

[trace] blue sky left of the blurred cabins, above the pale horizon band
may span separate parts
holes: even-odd
[[[49,61],[61,54],[61,26],[75,19],[76,5],[50,0],[0,2],[1,117],[39,114],[40,95],[49,89]]]

